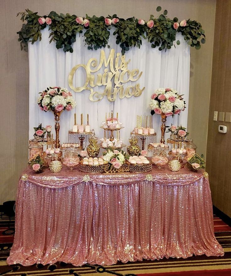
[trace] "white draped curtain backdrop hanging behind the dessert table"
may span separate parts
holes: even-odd
[[[111,30],[113,32],[113,30]],[[121,130],[121,138],[128,145],[130,132],[135,127],[136,115],[150,115],[148,103],[151,100],[153,91],[159,87],[170,87],[184,94],[186,106],[188,107],[189,100],[189,73],[190,73],[190,49],[183,39],[183,36],[178,34],[177,39],[180,40],[180,45],[172,47],[172,49],[159,51],[158,48],[151,48],[151,44],[145,40],[142,41],[140,49],[138,47],[131,48],[126,52],[126,60],[131,59],[128,64],[128,69],[138,68],[143,72],[141,78],[137,82],[128,82],[124,84],[124,88],[129,85],[140,83],[140,87],[145,86],[145,90],[139,97],[132,96],[131,98],[120,99],[115,102],[109,102],[104,98],[98,102],[89,100],[90,91],[83,90],[82,92],[74,92],[68,85],[68,74],[71,69],[77,64],[87,64],[92,57],[100,59],[100,50],[88,50],[84,44],[84,37],[77,37],[73,44],[73,53],[64,53],[62,49],[57,50],[55,43],[49,44],[49,31],[46,28],[42,31],[42,40],[29,44],[29,66],[30,66],[30,114],[29,114],[29,135],[33,138],[34,129],[39,123],[42,126],[52,125],[54,129],[54,114],[53,112],[41,111],[37,98],[39,92],[49,86],[66,87],[73,93],[73,97],[77,102],[75,110],[70,112],[64,111],[60,121],[60,141],[61,143],[68,141],[68,130],[72,129],[74,124],[74,113],[77,113],[77,121],[80,123],[80,114],[83,113],[85,120],[86,114],[89,114],[89,124],[94,128],[96,135],[99,138],[103,137],[103,130],[99,127],[101,122],[105,120],[105,112],[111,110],[119,113],[119,120],[123,123],[124,129]],[[106,58],[110,50],[115,49],[115,53],[120,53],[121,48],[115,43],[115,36],[110,36],[110,48],[105,48]],[[97,73],[103,73],[104,67]],[[97,74],[94,73],[94,74]],[[83,86],[85,82],[85,74],[83,70],[78,71],[74,78],[74,86]],[[103,92],[105,86],[95,87],[94,91]],[[180,125],[187,127],[188,108],[180,115],[167,118],[166,125]],[[86,121],[85,121],[86,123]],[[153,127],[157,132],[157,141],[160,140],[160,116],[153,115]],[[54,131],[55,136],[55,131]],[[168,137],[166,134],[166,139]],[[165,139],[165,140],[166,140]]]

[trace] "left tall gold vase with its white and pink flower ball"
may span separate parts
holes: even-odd
[[[55,116],[55,132],[56,132],[56,148],[60,147],[59,129],[60,129],[60,115],[64,110],[71,111],[76,102],[72,97],[72,93],[66,88],[54,86],[40,92],[38,98],[38,105],[42,111],[53,111]]]

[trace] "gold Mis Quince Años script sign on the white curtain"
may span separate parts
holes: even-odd
[[[101,50],[100,52],[100,61],[96,58],[90,58],[87,65],[77,64],[74,66],[68,76],[68,84],[71,89],[75,92],[81,92],[83,90],[90,90],[89,99],[93,102],[102,100],[104,96],[107,96],[107,99],[111,102],[116,100],[117,94],[120,99],[124,97],[130,98],[132,96],[138,97],[142,94],[145,87],[140,88],[140,84],[129,85],[124,88],[124,84],[132,81],[137,81],[143,72],[139,72],[138,69],[128,70],[127,65],[130,62],[130,59],[126,61],[125,55],[121,56],[120,53],[116,54],[115,63],[115,50],[111,49],[108,59],[106,59],[105,51]],[[95,77],[94,74],[102,68],[104,65],[104,73],[97,74]],[[86,73],[86,81],[82,87],[74,87],[73,78],[77,74],[78,68],[84,68]],[[109,70],[110,69],[110,70]],[[95,86],[105,85],[104,92],[94,91]]]

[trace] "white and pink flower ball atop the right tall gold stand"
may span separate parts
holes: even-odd
[[[174,116],[185,110],[185,101],[179,92],[173,88],[158,88],[151,95],[149,107],[151,114]]]

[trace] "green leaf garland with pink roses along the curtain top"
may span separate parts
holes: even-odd
[[[161,7],[157,7],[158,12]],[[77,17],[70,14],[57,14],[52,11],[48,16],[39,16],[29,9],[26,12],[19,13],[21,20],[26,21],[17,34],[21,42],[21,50],[27,50],[28,42],[32,44],[38,39],[41,40],[41,30],[49,26],[50,43],[56,41],[56,48],[63,48],[63,51],[73,52],[72,44],[76,41],[77,34],[84,32],[85,43],[89,50],[97,50],[102,47],[110,47],[108,40],[110,37],[110,28],[115,27],[113,35],[116,35],[116,44],[121,47],[122,55],[130,49],[130,47],[142,45],[142,37],[148,39],[152,48],[166,50],[175,46],[176,33],[181,33],[185,41],[197,50],[201,48],[201,43],[205,43],[205,32],[201,24],[195,20],[182,20],[178,22],[178,18],[170,19],[167,15],[168,11],[164,10],[158,18],[150,15],[148,22],[143,19],[134,17],[123,19],[117,17],[116,14],[108,17]],[[18,14],[18,15],[19,15]],[[17,15],[17,16],[18,16]],[[180,41],[176,41],[179,45]]]

